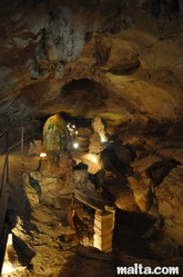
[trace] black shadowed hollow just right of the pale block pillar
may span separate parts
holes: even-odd
[[[155,220],[148,214],[116,209],[113,236],[114,249],[136,258],[160,260],[161,257],[150,248],[150,240],[143,238],[143,235],[153,226]],[[160,234],[157,235],[160,236]]]

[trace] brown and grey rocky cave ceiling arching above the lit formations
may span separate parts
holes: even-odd
[[[2,0],[1,121],[64,112],[176,126],[182,17],[181,0]]]

